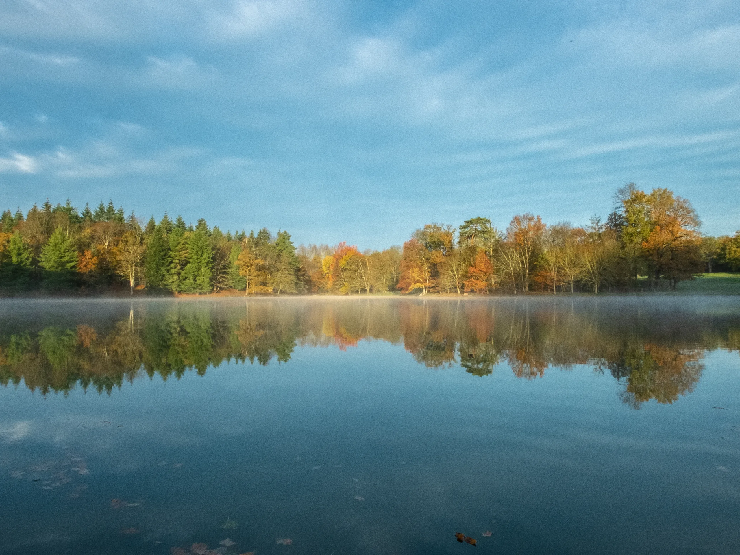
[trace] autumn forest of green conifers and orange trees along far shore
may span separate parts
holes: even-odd
[[[110,201],[79,210],[47,199],[0,218],[2,295],[629,292],[676,289],[703,272],[740,269],[740,231],[702,235],[670,189],[617,189],[605,221],[547,225],[526,212],[505,229],[476,217],[428,223],[403,246],[295,246],[289,232],[223,232],[166,213],[148,221]]]

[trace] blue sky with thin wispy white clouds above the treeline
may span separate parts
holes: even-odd
[[[737,1],[0,1],[0,201],[296,243],[604,218],[740,228]]]

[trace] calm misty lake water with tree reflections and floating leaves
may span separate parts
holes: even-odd
[[[738,297],[4,300],[0,553],[738,554],[739,349]]]

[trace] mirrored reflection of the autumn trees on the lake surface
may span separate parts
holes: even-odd
[[[680,301],[680,302],[679,302]],[[135,303],[92,327],[1,329],[0,383],[47,394],[76,386],[111,393],[124,380],[199,375],[224,361],[287,363],[297,346],[403,344],[430,369],[477,377],[507,365],[527,380],[590,365],[633,408],[693,391],[709,349],[740,346],[740,310],[707,300],[252,299]],[[740,308],[740,306],[739,306]],[[70,316],[70,318],[73,318]]]

